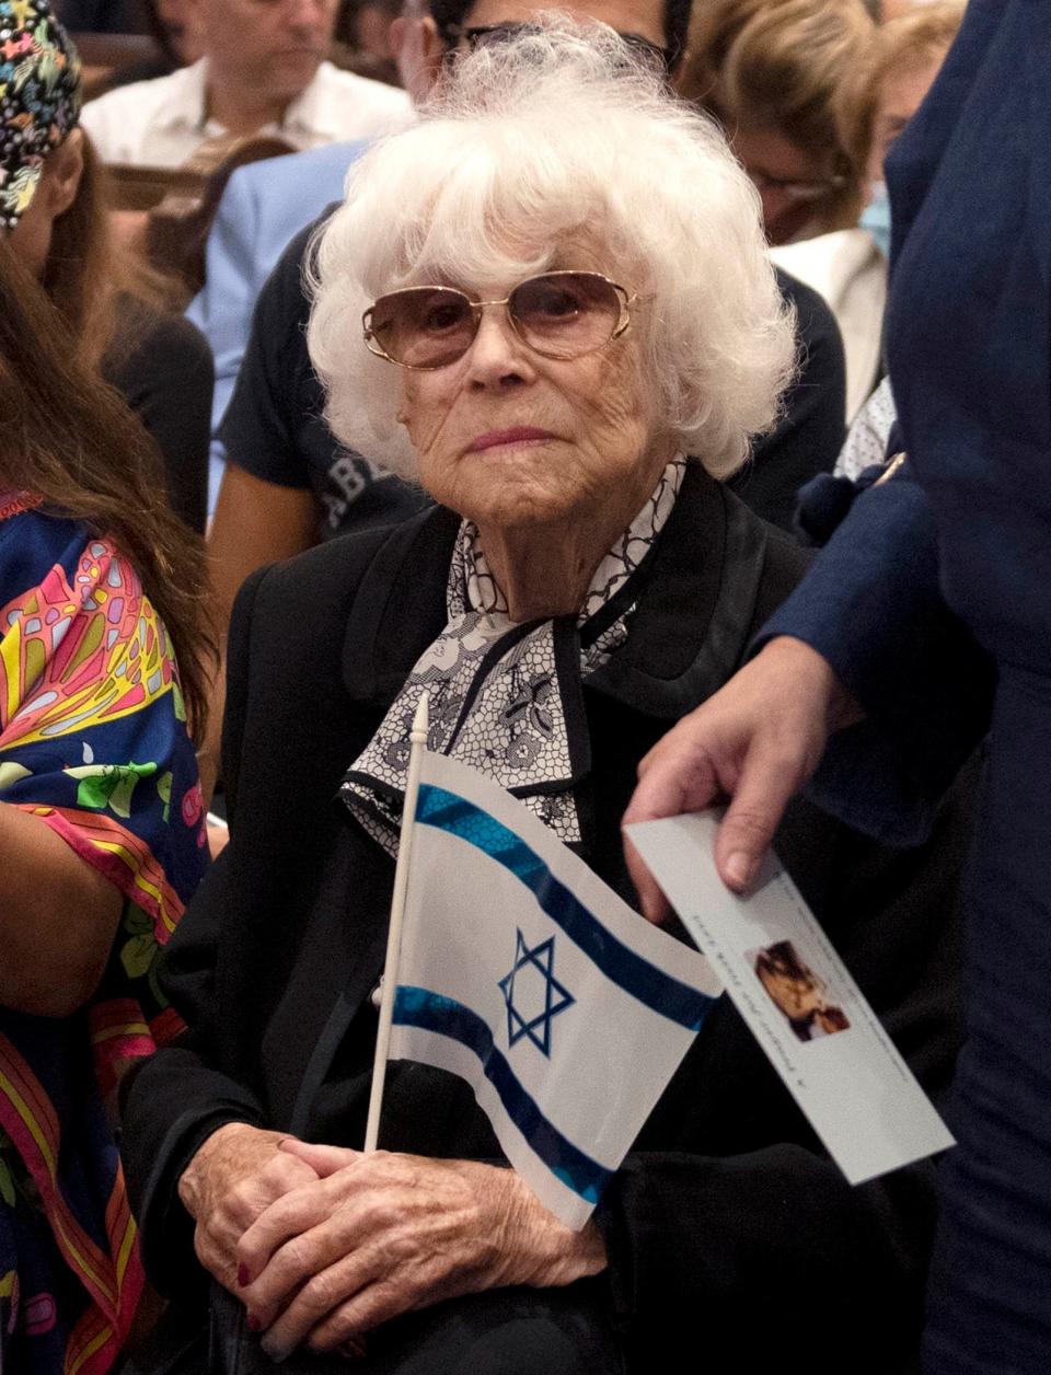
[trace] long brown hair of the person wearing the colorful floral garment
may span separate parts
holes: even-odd
[[[61,311],[0,236],[0,487],[83,520],[132,562],[171,635],[195,737],[215,642],[204,544],[169,510],[153,440],[76,346]]]

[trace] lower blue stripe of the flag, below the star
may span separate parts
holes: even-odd
[[[421,789],[422,791],[422,789]],[[481,1062],[486,1078],[499,1096],[503,1111],[526,1137],[530,1150],[574,1194],[597,1203],[614,1177],[612,1170],[578,1150],[568,1137],[548,1121],[534,1099],[519,1082],[505,1056],[497,1049],[492,1033],[470,1008],[429,989],[399,984],[395,993],[393,1020],[399,1026],[421,1027],[436,1035],[450,1037],[472,1050]]]

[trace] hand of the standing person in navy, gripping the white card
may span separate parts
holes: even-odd
[[[741,892],[788,800],[817,769],[828,736],[860,716],[816,650],[799,639],[773,639],[642,759],[625,825],[702,811],[730,798],[715,866],[726,887]],[[627,837],[625,857],[642,912],[662,921],[667,902]]]

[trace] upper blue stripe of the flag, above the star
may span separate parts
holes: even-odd
[[[565,884],[554,877],[537,851],[490,813],[444,788],[421,784],[415,820],[459,836],[510,870],[530,888],[552,921],[557,923],[598,965],[611,983],[669,1020],[691,1031],[700,1028],[715,1000],[658,969],[618,940]]]

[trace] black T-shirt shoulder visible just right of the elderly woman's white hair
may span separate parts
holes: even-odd
[[[825,301],[787,272],[781,296],[795,307],[798,373],[777,426],[755,441],[730,490],[763,520],[791,531],[795,498],[819,473],[831,473],[843,444],[846,363],[839,326]]]

